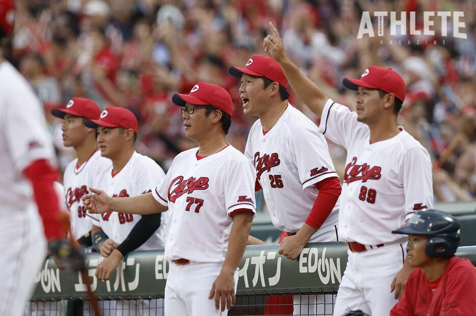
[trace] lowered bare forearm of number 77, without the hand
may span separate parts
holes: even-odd
[[[244,211],[233,216],[233,225],[231,226],[230,239],[228,241],[228,252],[223,262],[222,272],[233,274],[236,271],[243,253],[245,253],[252,222],[252,212]]]

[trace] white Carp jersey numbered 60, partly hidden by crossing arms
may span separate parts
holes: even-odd
[[[152,159],[134,151],[127,164],[113,175],[113,167],[107,170],[99,182],[99,189],[112,197],[132,197],[148,193],[161,183],[165,177],[164,170]],[[142,218],[141,215],[107,213],[93,216],[93,224],[100,226],[110,239],[121,244],[130,231]],[[136,250],[164,249],[164,226],[167,215],[161,215],[161,226],[150,238]]]

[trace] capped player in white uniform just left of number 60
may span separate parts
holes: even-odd
[[[86,98],[74,97],[65,109],[53,109],[51,114],[63,119],[63,143],[73,147],[76,159],[68,164],[63,174],[64,202],[70,213],[73,238],[82,247],[92,246],[91,216],[81,201],[89,188],[98,187],[102,174],[111,166],[111,161],[101,156],[97,148],[96,129],[84,125],[85,120],[98,119],[101,110]]]

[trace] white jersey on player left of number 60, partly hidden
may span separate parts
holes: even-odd
[[[63,175],[64,201],[70,212],[71,231],[75,240],[91,230],[92,217],[86,212],[81,197],[89,194],[89,188],[98,188],[103,174],[110,171],[111,160],[96,150],[87,161],[77,166],[77,158],[66,167]]]

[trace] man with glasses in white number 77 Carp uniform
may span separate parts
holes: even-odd
[[[91,213],[170,209],[165,257],[173,264],[165,314],[226,315],[235,303],[237,266],[255,214],[253,168],[226,143],[233,108],[225,89],[200,82],[172,101],[182,107],[186,136],[199,147],[178,154],[151,194],[111,199],[93,190],[83,200]]]

